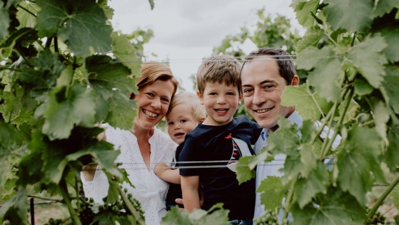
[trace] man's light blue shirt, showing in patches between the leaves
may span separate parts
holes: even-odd
[[[302,126],[303,118],[299,116],[297,111],[294,111],[288,118],[287,118],[292,124],[297,124],[298,127]],[[320,128],[322,123],[319,121],[315,122],[315,126],[317,128]],[[328,132],[328,138],[332,138],[334,131],[329,130],[328,127],[324,127],[323,131],[320,133],[320,138],[326,138],[327,137],[327,132]],[[300,130],[298,130],[298,136],[301,137],[302,134]],[[268,145],[268,137],[269,137],[269,129],[268,128],[263,128],[262,132],[260,133],[260,136],[258,140],[255,143],[254,146],[254,151],[255,154],[258,154],[258,152],[265,146]],[[338,145],[341,142],[341,136],[337,135],[337,137],[334,139],[333,145],[331,145],[331,148],[336,149]],[[285,162],[285,157],[286,155],[283,153],[276,154],[274,156],[274,160],[272,160],[269,163],[264,163],[260,162],[258,163],[258,166],[256,168],[256,189],[258,189],[260,182],[263,181],[268,176],[277,176],[277,177],[282,177],[284,175],[283,172],[280,172],[279,170],[284,167],[284,162]],[[329,160],[328,162],[324,163],[330,163],[332,160]],[[264,206],[261,205],[260,203],[260,193],[256,192],[256,199],[255,199],[255,213],[254,213],[254,218],[261,216],[264,213]]]

